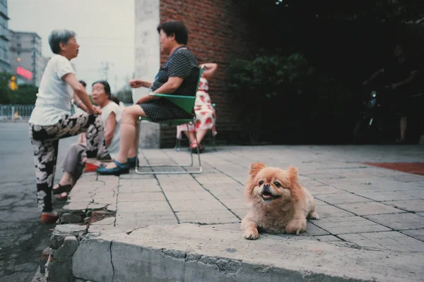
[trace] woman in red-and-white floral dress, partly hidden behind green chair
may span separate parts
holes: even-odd
[[[196,93],[196,102],[194,103],[194,113],[196,114],[194,124],[188,123],[177,126],[177,139],[181,139],[181,133],[183,132],[189,138],[192,152],[197,152],[197,144],[199,144],[199,152],[203,151],[204,147],[201,145],[201,141],[209,129],[212,130],[213,136],[217,133],[215,128],[216,113],[211,104],[211,97],[208,94],[208,80],[216,73],[218,65],[216,63],[204,63],[203,66],[204,71],[201,74],[199,88]],[[196,130],[194,130],[195,126]]]

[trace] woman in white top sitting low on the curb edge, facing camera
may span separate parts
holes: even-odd
[[[102,123],[105,128],[106,152],[98,152],[98,159],[117,157],[119,150],[119,125],[121,123],[122,108],[119,106],[119,99],[112,96],[110,85],[105,80],[94,82],[91,88],[93,102],[100,106],[102,110]],[[113,101],[113,102],[112,102]],[[53,188],[53,194],[58,195],[58,200],[66,200],[69,191],[75,185],[76,180],[81,176],[83,169],[81,162],[86,158],[86,145],[83,143],[73,144],[66,154],[62,168],[64,174],[59,183]],[[93,172],[98,166],[86,164],[84,171]],[[60,194],[60,195],[59,195]]]

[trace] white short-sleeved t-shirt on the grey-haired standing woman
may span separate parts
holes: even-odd
[[[71,114],[73,90],[61,79],[68,73],[75,73],[71,62],[61,55],[52,56],[42,74],[35,108],[29,123],[54,125],[64,114]]]

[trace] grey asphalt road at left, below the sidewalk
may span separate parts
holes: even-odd
[[[59,142],[59,166],[76,140],[70,137]],[[40,224],[28,123],[0,122],[0,160],[0,281],[31,281],[54,225]],[[60,177],[57,168],[54,183]],[[54,209],[63,204],[54,202]]]

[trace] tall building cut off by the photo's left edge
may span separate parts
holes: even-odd
[[[11,72],[7,0],[0,0],[0,72]]]

